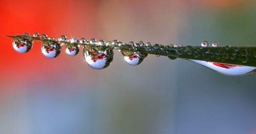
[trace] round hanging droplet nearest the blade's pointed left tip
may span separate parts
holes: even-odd
[[[27,53],[33,47],[33,40],[23,35],[14,36],[12,47],[18,53]]]

